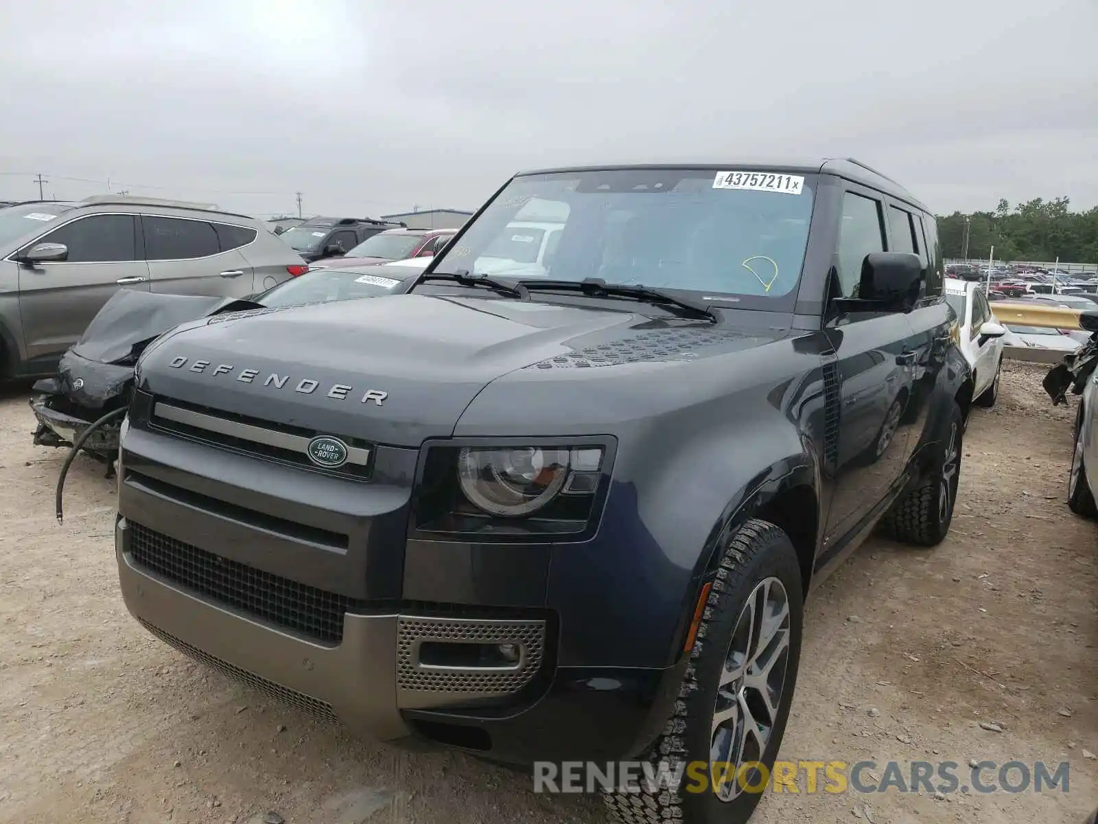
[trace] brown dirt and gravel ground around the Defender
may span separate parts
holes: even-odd
[[[768,794],[753,822],[1082,824],[1098,805],[1098,524],[1064,503],[1074,398],[1051,408],[1045,368],[1011,364],[973,413],[944,544],[873,538],[815,595],[781,757],[1069,760],[1069,792]],[[113,482],[79,459],[58,525],[65,456],[31,445],[26,398],[0,396],[0,822],[606,824],[597,799],[351,741],[154,639],[119,595]]]

